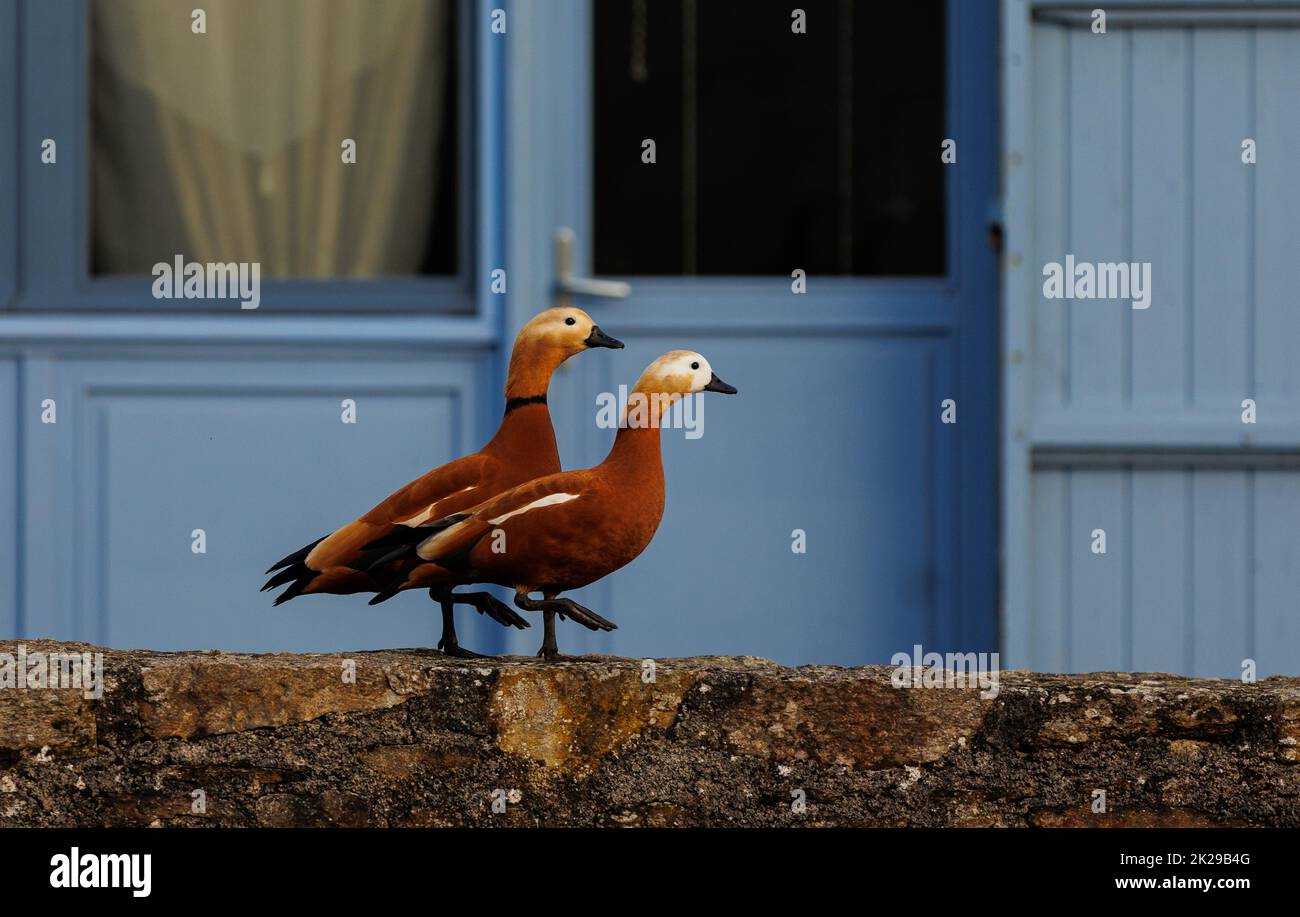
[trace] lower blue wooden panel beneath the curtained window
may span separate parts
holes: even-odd
[[[29,360],[20,632],[114,646],[430,645],[426,596],[257,594],[281,555],[477,445],[489,354]],[[343,399],[356,423],[342,421]],[[25,402],[25,406],[26,406]],[[207,553],[191,552],[203,529]],[[472,626],[471,626],[472,627]]]

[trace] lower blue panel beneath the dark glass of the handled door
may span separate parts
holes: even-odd
[[[630,385],[676,339],[640,334],[619,365],[585,385]],[[931,410],[950,382],[945,346],[870,336],[708,336],[693,346],[741,395],[701,397],[699,438],[662,432],[667,507],[655,540],[575,593],[610,609],[619,630],[568,628],[564,645],[842,665],[935,645],[939,571],[950,568],[953,548],[944,527],[952,494],[933,481],[950,449],[952,427]],[[581,401],[562,403],[572,412]],[[586,401],[578,420],[592,427]],[[584,463],[611,438],[590,437]],[[792,552],[794,529],[807,553]]]

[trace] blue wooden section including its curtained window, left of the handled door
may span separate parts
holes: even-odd
[[[0,5],[0,636],[432,646],[426,596],[257,589],[499,418],[493,4],[194,7]]]

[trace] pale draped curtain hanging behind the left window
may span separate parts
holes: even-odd
[[[98,268],[419,273],[448,165],[451,1],[95,0]]]

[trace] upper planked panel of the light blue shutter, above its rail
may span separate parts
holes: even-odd
[[[1300,190],[1264,155],[1243,165],[1240,143],[1264,135],[1278,150],[1300,139],[1287,91],[1296,78],[1280,64],[1300,53],[1300,30],[1091,38],[1035,29],[1035,268],[1066,254],[1150,261],[1154,299],[1135,312],[1040,297],[1035,412],[1186,399],[1193,411],[1235,416],[1242,397],[1268,384],[1295,415],[1300,371],[1277,342],[1297,328],[1279,285],[1295,256],[1288,228]],[[1171,139],[1182,155],[1170,153]]]

